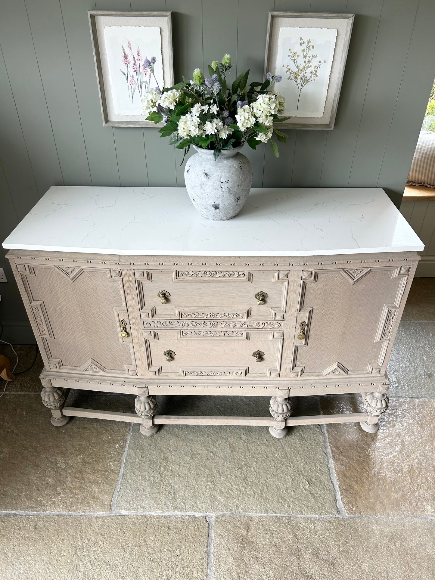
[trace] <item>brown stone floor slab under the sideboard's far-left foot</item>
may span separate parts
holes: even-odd
[[[129,411],[134,397],[81,393],[83,407]],[[53,427],[39,394],[0,398],[0,510],[107,512],[130,425],[73,418]]]

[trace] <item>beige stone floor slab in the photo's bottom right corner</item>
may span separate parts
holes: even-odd
[[[225,517],[213,578],[433,580],[435,520]]]

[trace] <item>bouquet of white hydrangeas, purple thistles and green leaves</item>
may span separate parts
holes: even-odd
[[[255,149],[267,142],[278,157],[278,145],[272,136],[285,143],[287,135],[273,124],[289,119],[278,117],[285,104],[275,90],[281,75],[267,73],[264,82],[247,85],[247,70],[227,86],[230,69],[231,55],[224,55],[220,63],[214,60],[208,67],[209,77],[195,68],[191,81],[183,77],[183,82],[171,88],[149,90],[143,98],[143,114],[147,121],[164,123],[161,136],[184,149],[184,157],[191,145],[213,150],[217,160],[223,150],[245,143]]]

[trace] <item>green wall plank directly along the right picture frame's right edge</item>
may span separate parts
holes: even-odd
[[[362,106],[372,66],[382,0],[349,0],[355,14],[345,76],[333,131],[328,131],[320,186],[347,187],[357,142]]]

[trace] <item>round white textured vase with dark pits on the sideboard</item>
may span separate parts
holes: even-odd
[[[195,209],[207,219],[234,218],[251,190],[251,162],[239,153],[242,147],[222,151],[216,161],[212,150],[194,148],[198,153],[187,161],[184,181]]]

